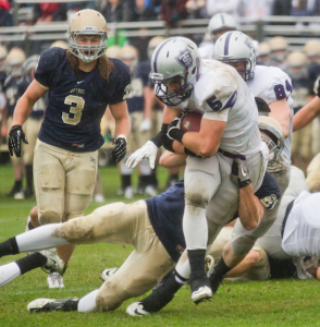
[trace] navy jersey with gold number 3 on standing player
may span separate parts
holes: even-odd
[[[94,152],[103,144],[100,121],[107,106],[126,99],[130,72],[120,60],[110,59],[114,69],[104,80],[96,66],[75,74],[66,50],[51,48],[42,52],[35,70],[36,81],[49,89],[39,140],[72,152]]]

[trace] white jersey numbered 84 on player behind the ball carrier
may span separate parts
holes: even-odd
[[[284,140],[284,149],[279,159],[268,166],[269,171],[280,171],[291,165],[291,141],[293,120],[292,81],[281,69],[275,66],[257,65],[255,77],[247,81],[247,85],[255,97],[260,97],[268,105],[286,98],[291,108],[290,133]]]

